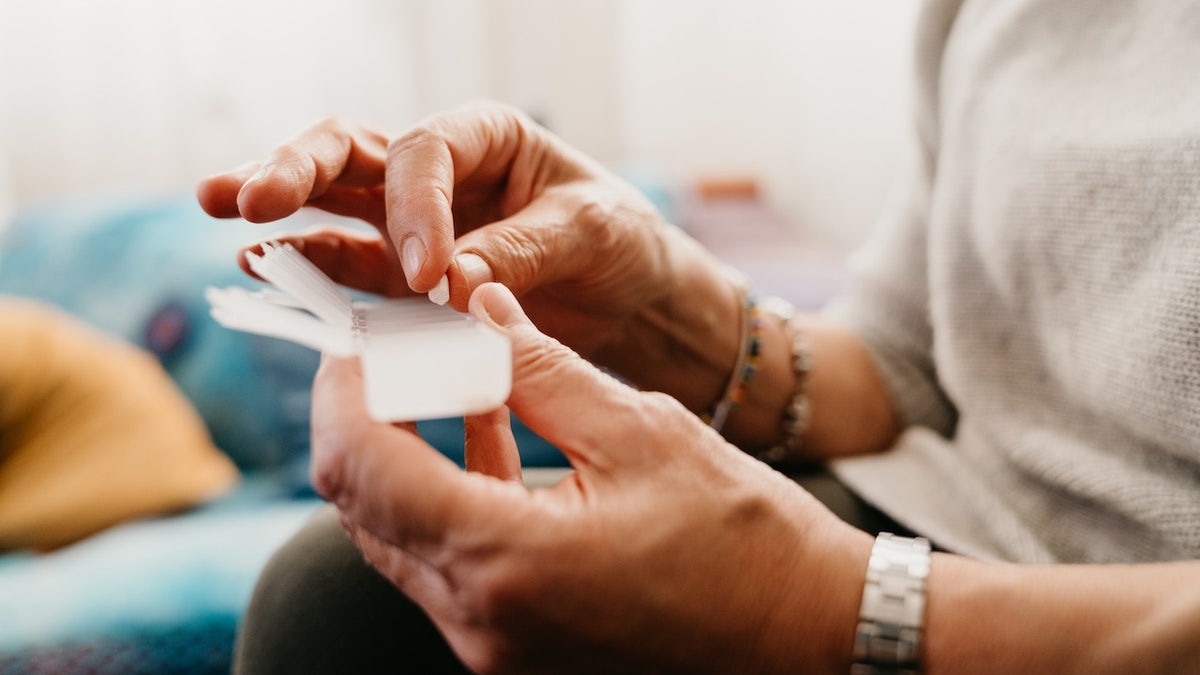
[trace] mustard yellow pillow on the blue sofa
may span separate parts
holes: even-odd
[[[154,357],[0,298],[0,550],[61,546],[236,478]]]

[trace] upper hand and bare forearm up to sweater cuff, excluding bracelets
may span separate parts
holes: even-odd
[[[361,219],[380,235],[282,239],[335,281],[383,295],[424,293],[445,277],[460,311],[474,289],[499,281],[544,333],[694,412],[721,398],[743,348],[742,291],[715,258],[635,189],[503,106],[437,115],[396,139],[328,120],[262,163],[209,178],[198,197],[214,216],[256,222],[304,205]],[[818,328],[806,448],[822,456],[882,447],[895,425],[870,359],[852,336]],[[724,429],[748,448],[779,441],[794,389],[791,342],[774,322],[760,354]]]

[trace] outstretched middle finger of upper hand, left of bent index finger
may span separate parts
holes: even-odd
[[[382,185],[386,147],[386,138],[360,125],[322,121],[276,148],[245,178],[235,198],[238,213],[251,222],[269,222],[320,199],[335,184],[350,189]],[[228,190],[234,179],[223,180]],[[221,207],[223,213],[228,203]],[[378,215],[376,225],[382,225]]]

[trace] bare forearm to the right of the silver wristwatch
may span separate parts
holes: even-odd
[[[925,671],[1200,673],[1200,563],[1000,566],[935,555]]]

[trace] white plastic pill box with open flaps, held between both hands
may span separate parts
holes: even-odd
[[[509,340],[473,317],[426,298],[354,301],[287,244],[264,244],[262,256],[246,259],[274,288],[208,288],[212,318],[330,354],[358,354],[374,419],[461,417],[509,398]]]

